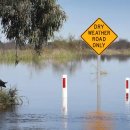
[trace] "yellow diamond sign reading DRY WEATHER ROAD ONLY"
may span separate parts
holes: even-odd
[[[81,35],[81,38],[86,44],[98,55],[100,55],[117,37],[117,34],[115,34],[101,18],[98,18]]]

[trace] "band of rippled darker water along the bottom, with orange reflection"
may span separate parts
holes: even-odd
[[[113,129],[112,126],[114,123],[130,123],[130,114],[107,114],[101,112],[87,113],[86,116],[58,116],[58,115],[47,115],[47,114],[15,114],[8,113],[6,117],[1,118],[0,123],[6,124],[0,126],[2,130],[62,130],[64,128],[64,123],[67,123],[68,126],[72,127],[75,124],[82,124],[83,129],[97,129],[97,127],[104,127],[103,130]],[[53,125],[52,125],[53,124]],[[17,126],[18,125],[18,126]],[[51,125],[53,127],[51,127]],[[15,128],[16,127],[16,128]],[[37,128],[36,128],[37,127]],[[54,128],[55,127],[55,128]],[[87,127],[87,128],[86,128]],[[75,128],[76,129],[76,128]],[[77,129],[76,129],[77,130]],[[114,130],[114,129],[113,129]]]

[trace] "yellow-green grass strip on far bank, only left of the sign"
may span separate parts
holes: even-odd
[[[44,49],[40,55],[33,50],[18,50],[18,57],[16,59],[15,50],[1,50],[0,62],[14,63],[16,60],[20,62],[30,62],[38,60],[73,60],[82,58],[89,54],[88,51],[67,50],[67,49]]]

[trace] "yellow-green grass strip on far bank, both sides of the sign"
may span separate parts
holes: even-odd
[[[18,50],[18,61],[20,62],[37,62],[39,60],[60,60],[60,61],[69,61],[74,59],[83,59],[89,55],[96,55],[95,52],[91,49],[50,49],[44,48],[41,55],[38,56],[31,49]],[[103,52],[103,55],[114,56],[114,55],[123,55],[130,56],[129,49],[114,50],[107,49]],[[0,62],[14,63],[16,61],[15,50],[0,50]]]

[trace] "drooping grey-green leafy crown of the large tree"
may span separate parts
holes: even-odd
[[[62,27],[66,14],[56,0],[0,0],[0,18],[7,39],[39,51]]]

